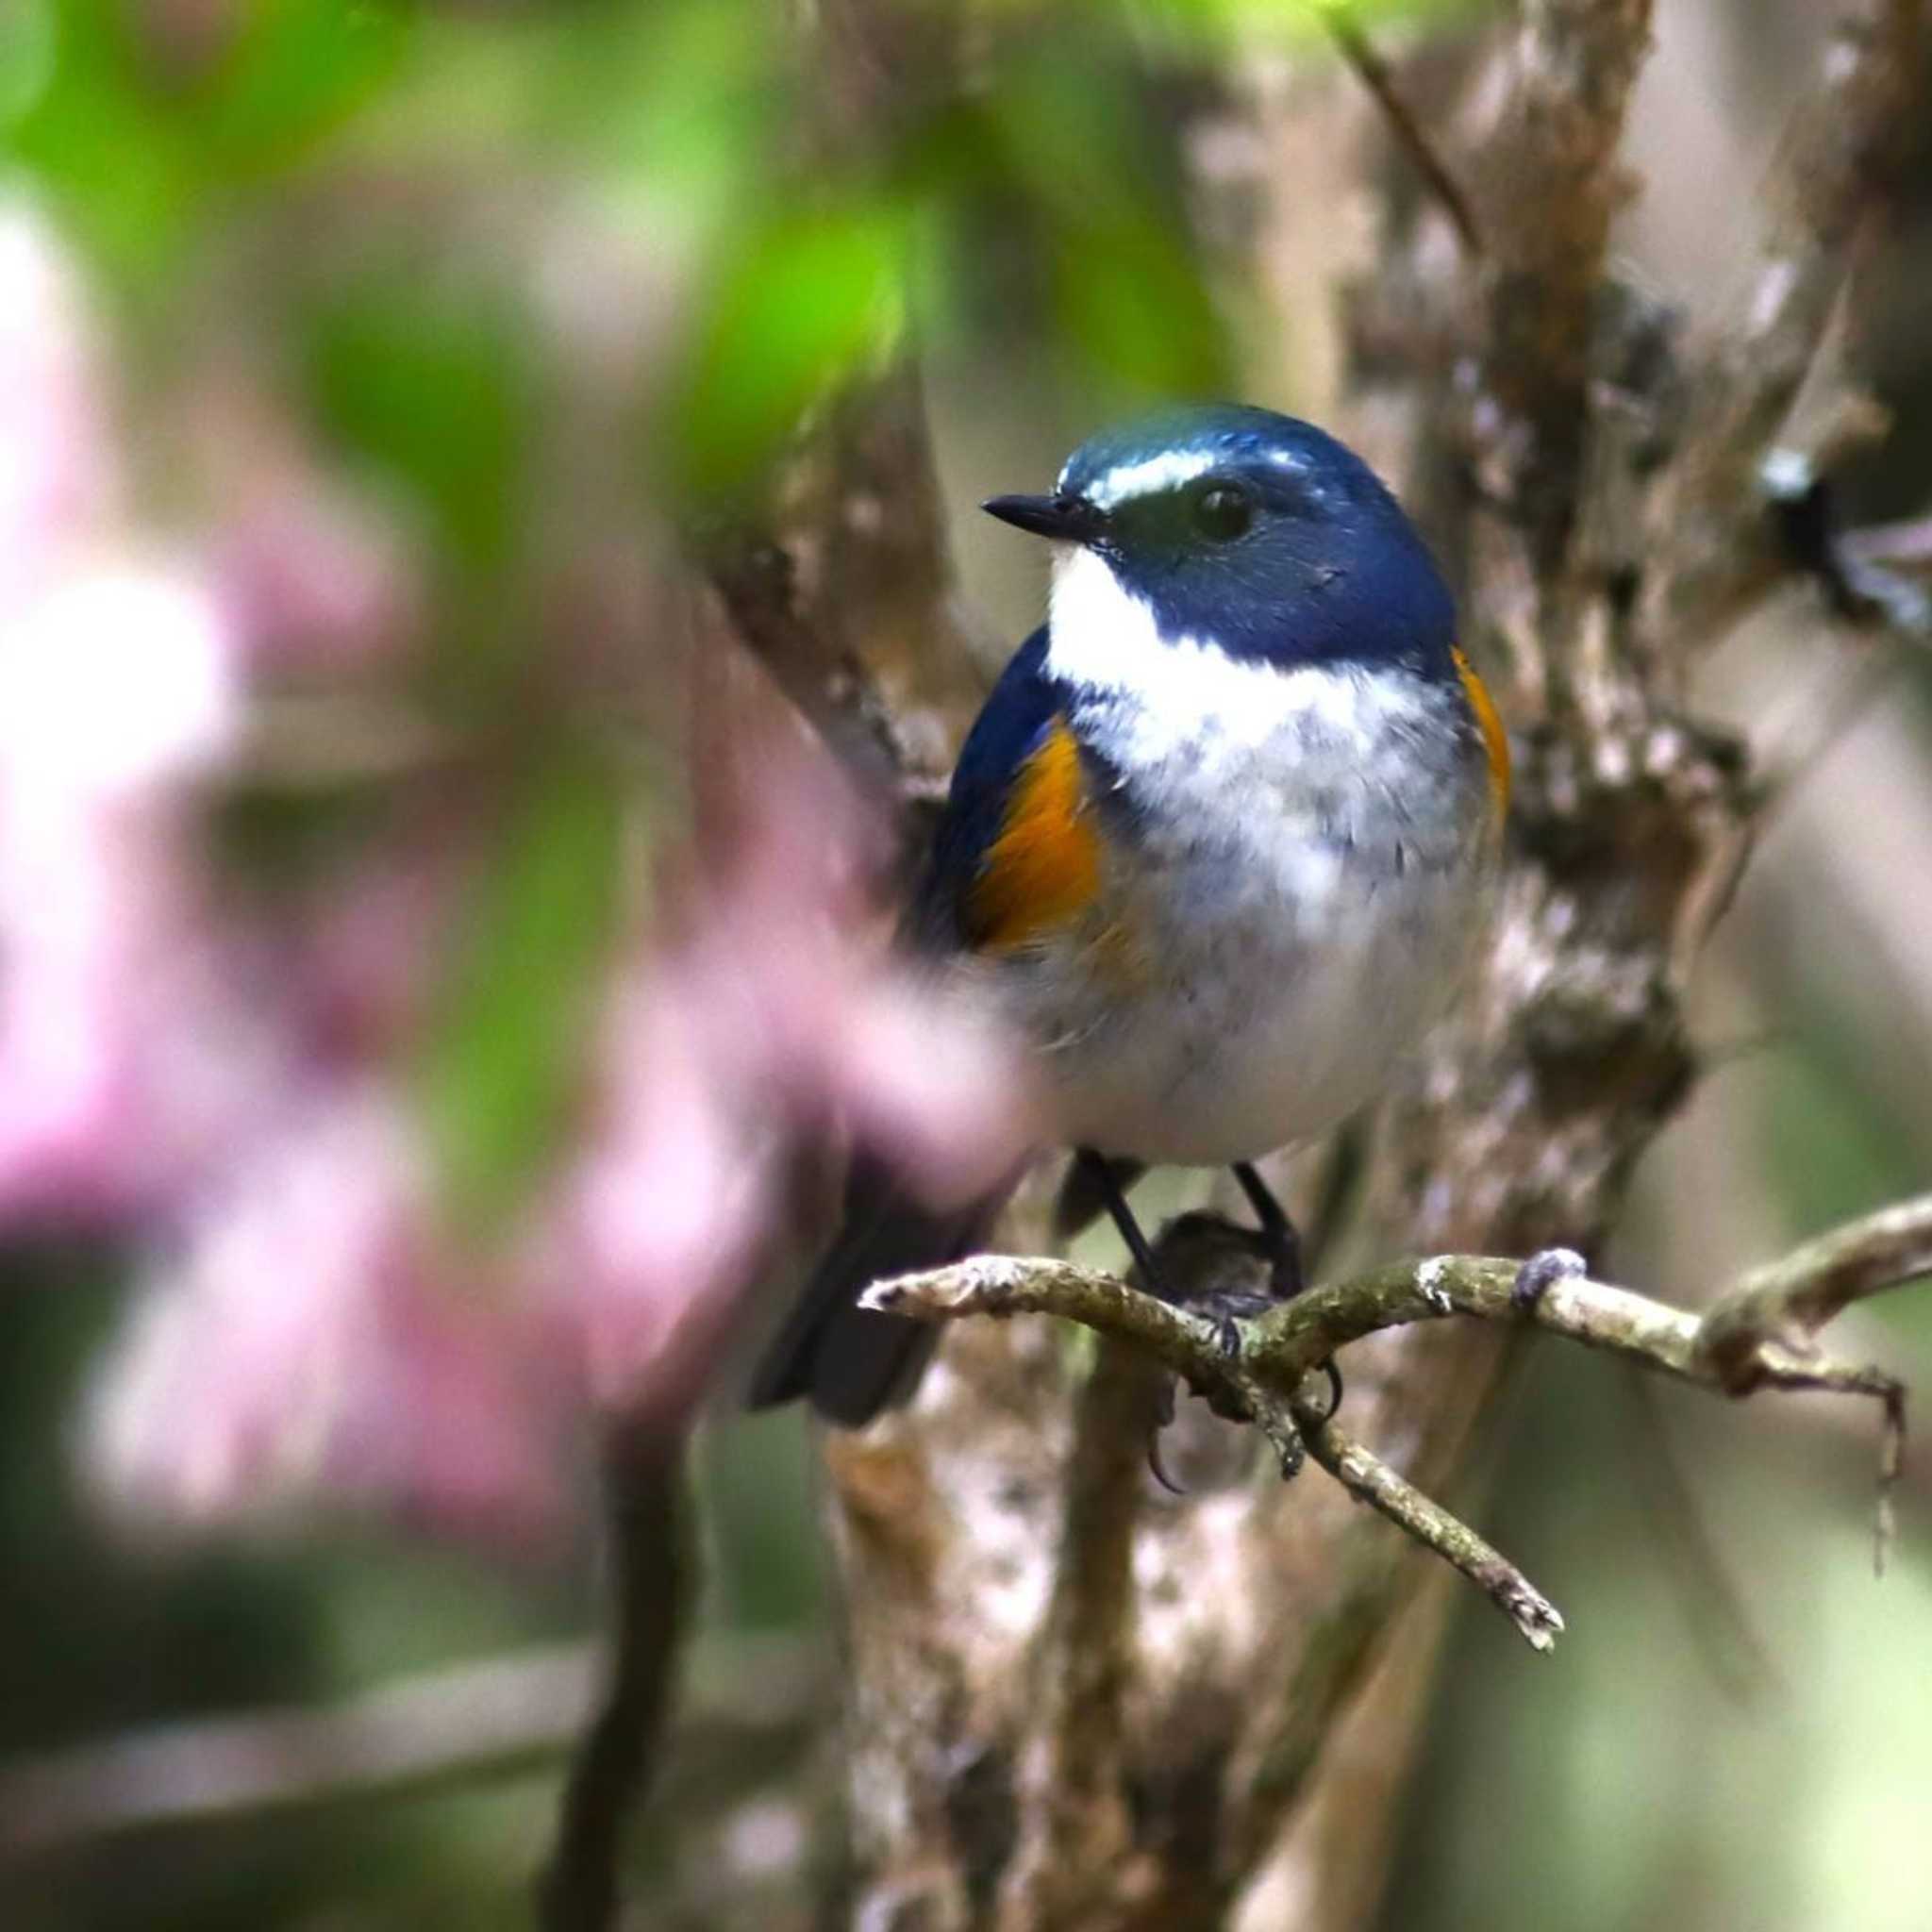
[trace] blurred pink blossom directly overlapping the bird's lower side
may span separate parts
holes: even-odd
[[[682,931],[618,997],[609,1101],[574,1177],[572,1279],[609,1399],[674,1410],[703,1393],[800,1157],[862,1142],[947,1206],[1028,1144],[1007,1039],[885,943],[871,827],[796,721],[761,717],[775,705],[734,697],[728,796]]]

